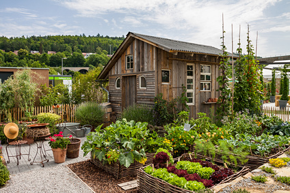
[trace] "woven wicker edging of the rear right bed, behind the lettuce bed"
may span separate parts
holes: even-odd
[[[246,162],[245,164],[242,164],[241,166],[246,166],[248,167],[251,171],[255,170],[256,168],[259,168],[259,166],[262,166],[263,164],[269,162],[269,159],[273,159],[273,158],[278,158],[278,156],[282,155],[283,153],[285,153],[285,151],[289,151],[290,150],[290,146],[287,145],[288,147],[286,149],[283,149],[282,151],[278,151],[277,153],[275,153],[274,155],[271,155],[269,157],[266,158],[260,158],[257,156],[253,156],[253,155],[246,155],[246,159],[248,159],[248,162]],[[223,163],[222,161],[222,151],[220,150],[215,150],[215,162],[218,163]],[[194,153],[194,152],[193,152]],[[237,155],[235,153],[230,153],[232,155],[235,156],[240,156]],[[205,156],[199,153],[196,153],[196,155],[198,156],[198,158],[207,158],[209,160],[211,160],[212,158],[209,158],[209,156]]]

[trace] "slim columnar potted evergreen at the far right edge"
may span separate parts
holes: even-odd
[[[282,79],[281,79],[281,98],[279,100],[279,106],[280,106],[280,110],[284,110],[286,109],[287,106],[287,102],[289,100],[289,80],[287,78],[287,66],[288,65],[284,65],[284,68],[282,69]]]

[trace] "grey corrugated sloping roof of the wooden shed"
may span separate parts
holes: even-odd
[[[132,33],[132,32],[129,32]],[[167,48],[169,50],[176,50],[181,52],[188,52],[188,53],[202,53],[202,54],[209,54],[209,55],[220,55],[222,54],[222,50],[215,48],[213,46],[206,46],[202,44],[194,44],[190,42],[182,42],[178,40],[170,40],[167,38],[159,38],[150,35],[143,35],[140,33],[132,33],[133,35],[158,44],[163,48]]]

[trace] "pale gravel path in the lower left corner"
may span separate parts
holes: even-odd
[[[66,166],[41,168],[11,175],[0,192],[93,192]]]

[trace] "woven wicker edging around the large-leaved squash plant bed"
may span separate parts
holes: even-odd
[[[155,153],[146,153],[147,161],[145,162],[145,165],[153,163],[154,154]],[[111,164],[103,164],[103,161],[98,160],[98,158],[92,158],[92,153],[91,153],[91,162],[94,163],[98,168],[102,168],[107,173],[113,175],[114,178],[116,179],[128,176],[135,176],[137,175],[137,169],[144,166],[143,164],[140,164],[136,160],[134,160],[133,164],[131,164],[128,168],[120,165],[119,161],[113,162]]]

